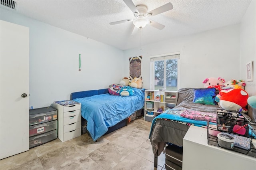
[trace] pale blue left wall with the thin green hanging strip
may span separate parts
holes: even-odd
[[[1,20],[30,28],[30,106],[46,107],[70,99],[75,91],[107,88],[123,77],[122,50],[9,10],[0,12]]]

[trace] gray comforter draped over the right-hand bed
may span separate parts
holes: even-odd
[[[219,108],[218,105],[204,105],[193,102],[194,89],[196,90],[201,88],[179,89],[177,106],[171,110],[193,110],[198,112],[216,114],[216,109]],[[183,138],[186,132],[188,131],[188,128],[190,127],[190,125],[194,125],[192,123],[188,123],[186,120],[183,120],[184,119],[177,121],[169,119],[160,119],[158,117],[154,118],[149,138],[152,145],[153,153],[155,155],[155,167],[157,166],[157,156],[159,156],[161,152],[164,150],[164,147],[166,146],[167,142],[175,144],[177,146],[183,146]]]

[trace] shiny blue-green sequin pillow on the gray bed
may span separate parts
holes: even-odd
[[[214,101],[216,94],[214,88],[194,89],[194,103],[201,103],[204,105],[216,105]]]

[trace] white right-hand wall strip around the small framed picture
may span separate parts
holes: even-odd
[[[246,80],[246,63],[253,61],[253,81],[246,81],[245,90],[250,96],[256,95],[256,1],[253,0],[248,7],[241,22],[241,60],[240,75]]]

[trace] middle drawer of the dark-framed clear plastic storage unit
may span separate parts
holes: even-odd
[[[57,120],[29,127],[29,137],[57,129]]]

